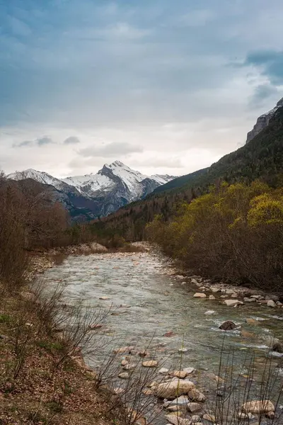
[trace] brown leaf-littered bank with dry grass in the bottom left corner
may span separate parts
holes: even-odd
[[[119,419],[121,409],[108,413],[110,392],[98,390],[95,375],[66,355],[69,345],[45,326],[34,300],[6,295],[2,301],[0,423],[102,425]]]

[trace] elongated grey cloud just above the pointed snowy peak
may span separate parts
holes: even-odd
[[[79,150],[82,157],[115,157],[120,154],[131,154],[143,152],[144,149],[138,145],[130,145],[126,142],[112,142],[104,146],[90,146]]]

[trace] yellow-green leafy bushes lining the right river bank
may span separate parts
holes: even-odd
[[[156,216],[151,241],[203,274],[283,293],[283,196],[255,181],[221,184],[182,205],[171,222]]]

